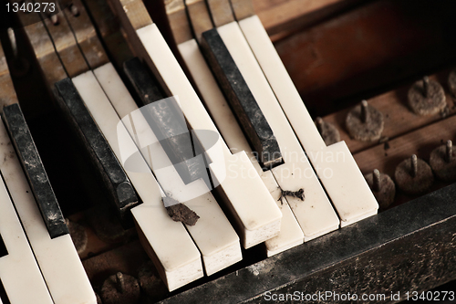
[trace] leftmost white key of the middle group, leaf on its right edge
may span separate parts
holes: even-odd
[[[121,124],[118,126],[119,116],[112,109],[93,72],[88,71],[72,81],[118,159],[120,143],[122,150],[130,155],[137,152],[128,131],[121,128]],[[118,136],[121,142],[118,142]],[[143,204],[131,209],[131,212],[152,247],[154,256],[160,261],[163,280],[171,291],[202,278],[201,256],[192,238],[181,223],[174,222],[166,213],[161,202],[160,186],[147,163],[139,158],[136,166],[141,169],[139,172],[126,173]],[[148,217],[145,218],[144,214]]]

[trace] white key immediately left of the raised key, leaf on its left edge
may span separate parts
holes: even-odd
[[[132,100],[130,93],[112,65],[107,64],[104,67],[97,68],[94,73],[97,76],[101,87],[106,92],[108,99],[114,106],[114,109],[112,109],[112,106],[109,104],[111,109],[117,111],[119,117],[130,115],[130,118],[132,119],[130,122],[131,124],[134,122],[136,136],[138,136],[137,138],[142,139],[145,137],[152,139],[152,142],[154,142],[155,135],[150,130],[148,122],[140,115],[141,113],[138,110],[136,103]],[[101,99],[97,99],[96,101],[99,103],[99,100]],[[107,111],[108,110],[100,111],[100,113],[106,115]],[[94,113],[94,116],[95,115],[96,114]],[[127,129],[130,131],[130,134],[133,135],[130,126]],[[138,143],[140,143],[140,141],[138,141]],[[143,150],[141,149],[140,151],[142,152]],[[176,194],[174,196],[177,196],[179,189],[185,189],[186,185],[181,183],[180,176],[172,168],[172,163],[167,158],[166,153],[160,145],[156,145],[155,147],[150,146],[150,155],[152,155],[153,158],[161,160],[159,163],[160,168],[171,168],[171,170],[166,170],[161,173],[161,170],[157,170],[156,166],[151,166],[151,169],[157,176],[163,190],[166,193]],[[143,154],[143,156],[146,158],[146,161],[149,162],[149,166],[152,163],[155,163],[153,160],[149,159],[148,155]],[[196,196],[187,202],[181,201],[181,203],[189,206],[200,216],[196,225],[186,226],[195,241],[196,246],[198,246],[202,253],[202,262],[206,274],[212,275],[213,273],[240,261],[242,259],[241,246],[239,237],[223,214],[219,204],[217,204],[213,198],[210,188],[208,188],[202,180],[193,183],[195,186],[202,189],[203,194]],[[198,188],[189,188],[188,191],[194,193]],[[198,192],[196,194],[201,193]],[[189,196],[189,194],[186,195]],[[192,196],[193,195],[190,195],[189,197]]]

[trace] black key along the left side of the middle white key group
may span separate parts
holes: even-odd
[[[132,224],[130,209],[140,202],[127,174],[98,129],[97,123],[90,115],[71,79],[58,81],[55,88],[57,102],[86,145],[91,160],[95,163],[107,187],[111,201],[115,204],[122,224],[130,226]]]

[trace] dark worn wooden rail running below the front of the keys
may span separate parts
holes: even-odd
[[[409,291],[411,299],[412,290],[420,293],[456,278],[455,197],[456,183],[161,303],[259,303],[295,291],[304,297],[326,291],[384,294],[382,302],[398,301],[390,299],[398,292],[407,299]],[[334,301],[329,299],[311,301]]]

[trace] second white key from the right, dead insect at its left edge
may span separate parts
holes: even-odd
[[[288,204],[303,229],[305,241],[337,229],[339,221],[336,212],[318,182],[237,22],[221,26],[217,30],[279,142],[285,163],[273,169],[275,179],[283,190],[305,190],[304,202],[296,197],[287,197]]]

